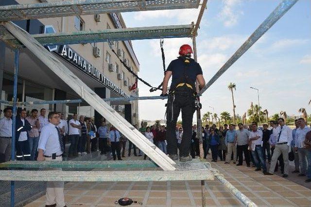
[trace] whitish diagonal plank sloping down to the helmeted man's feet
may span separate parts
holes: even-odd
[[[2,25],[11,32],[23,45],[46,64],[61,80],[68,84],[79,96],[101,113],[113,126],[124,134],[132,143],[140,148],[148,157],[155,161],[163,170],[175,170],[172,159],[143,136],[135,127],[128,123],[119,113],[112,109],[102,98],[93,92],[82,80],[74,75],[56,56],[44,48],[28,32],[12,22],[3,22]],[[84,88],[81,91],[81,87]],[[83,95],[82,95],[83,93]]]

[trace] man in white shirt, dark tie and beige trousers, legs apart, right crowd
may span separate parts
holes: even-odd
[[[288,177],[288,153],[291,151],[291,142],[293,140],[293,131],[290,127],[285,125],[284,119],[277,120],[279,126],[276,127],[276,145],[271,158],[271,165],[269,173],[265,175],[273,175],[276,167],[278,157],[282,154],[284,161],[284,174],[283,177]]]

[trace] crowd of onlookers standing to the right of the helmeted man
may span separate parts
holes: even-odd
[[[233,161],[237,166],[256,167],[264,175],[273,175],[279,167],[283,177],[289,176],[289,161],[294,161],[295,170],[299,176],[306,176],[305,182],[311,182],[311,129],[303,118],[295,120],[295,128],[285,125],[284,119],[270,121],[270,127],[264,124],[259,129],[256,122],[251,125],[233,124],[228,126],[206,125],[202,127],[204,158],[207,158],[209,149],[211,161],[218,158],[225,164]],[[199,156],[199,140],[196,135],[196,126],[192,127],[191,156]],[[176,128],[176,142],[180,142],[182,128]],[[270,164],[267,169],[266,163]],[[252,164],[251,164],[252,163]]]

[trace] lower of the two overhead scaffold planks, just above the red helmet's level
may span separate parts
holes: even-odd
[[[192,37],[193,25],[169,25],[156,27],[138,27],[124,29],[109,29],[101,31],[79,31],[53,34],[34,34],[34,37],[43,46],[72,45],[79,43],[142,40],[156,38]],[[16,47],[22,44],[14,36],[0,26],[0,38],[9,45]]]

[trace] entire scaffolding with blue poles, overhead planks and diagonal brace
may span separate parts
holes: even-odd
[[[250,36],[250,38],[238,49],[238,51],[227,61],[227,63],[216,73],[216,75],[208,81],[207,85],[200,91],[202,95],[206,89],[217,80],[235,61],[237,61],[242,54],[247,51],[265,32],[267,32],[273,24],[283,16],[296,2],[297,0],[283,0],[279,6],[274,10],[270,16],[264,20],[264,22],[259,26],[259,28]],[[197,8],[199,6],[199,0],[70,0],[63,2],[52,2],[52,3],[40,3],[40,4],[22,4],[22,5],[10,5],[0,7],[0,23],[5,27],[0,27],[0,40],[6,42],[11,47],[22,46],[29,48],[37,58],[39,58],[44,64],[46,64],[60,79],[67,82],[69,87],[71,87],[77,94],[81,96],[87,103],[89,103],[96,111],[100,112],[105,116],[105,118],[115,125],[126,137],[129,138],[133,143],[135,143],[139,148],[145,152],[148,157],[153,159],[155,163],[164,169],[161,171],[152,171],[152,173],[145,171],[135,172],[136,176],[131,177],[131,180],[136,181],[147,181],[147,180],[187,180],[187,179],[199,179],[202,185],[202,206],[206,206],[205,201],[205,180],[213,179],[216,177],[225,187],[232,192],[237,199],[239,199],[245,206],[256,206],[255,203],[250,201],[244,194],[234,188],[228,181],[225,180],[223,175],[220,175],[218,171],[210,168],[206,165],[203,167],[202,164],[196,163],[175,163],[172,159],[168,158],[164,153],[157,150],[154,144],[148,142],[148,140],[140,134],[140,132],[131,126],[130,123],[121,117],[114,109],[112,109],[108,104],[104,102],[99,96],[97,96],[86,84],[84,84],[78,77],[76,77],[70,70],[63,65],[52,53],[48,52],[43,45],[55,45],[56,42],[62,41],[60,44],[74,44],[74,43],[86,43],[86,42],[103,42],[107,39],[109,40],[125,40],[125,33],[132,33],[126,35],[126,39],[150,39],[158,37],[181,37],[181,31],[186,32],[187,37],[192,37],[193,39],[193,49],[194,58],[196,59],[196,41],[195,36],[197,35],[197,30],[199,29],[199,24],[206,8],[207,0],[203,0],[202,8],[197,20],[197,23],[193,29],[193,25],[181,25],[181,26],[164,26],[166,28],[155,27],[149,29],[142,28],[128,28],[122,30],[110,30],[109,31],[99,31],[99,32],[77,32],[76,34],[63,33],[63,34],[52,34],[52,35],[30,35],[21,28],[17,27],[12,22],[5,22],[16,19],[34,19],[34,18],[46,18],[46,17],[56,17],[56,16],[80,16],[88,14],[99,14],[107,12],[130,12],[130,11],[145,11],[145,10],[160,10],[160,9],[179,9],[179,8]],[[174,28],[173,28],[174,27]],[[177,27],[180,27],[179,29]],[[175,31],[173,31],[175,30]],[[10,34],[8,34],[8,31]],[[191,32],[190,32],[191,31]],[[114,32],[114,33],[113,33]],[[162,33],[161,33],[162,32]],[[190,32],[190,33],[189,33]],[[69,35],[69,37],[66,36]],[[160,35],[161,34],[161,35]],[[11,35],[11,36],[10,36]],[[75,35],[75,36],[74,36]],[[109,36],[110,35],[110,36]],[[119,36],[118,36],[119,35]],[[162,36],[163,35],[163,36]],[[185,34],[184,34],[185,35]],[[105,37],[105,38],[104,38]],[[57,39],[58,38],[58,39]],[[77,40],[73,40],[76,38]],[[115,39],[114,39],[115,38]],[[17,75],[18,75],[18,49],[15,49],[15,75],[14,75],[14,93],[13,93],[13,133],[12,133],[12,160],[15,159],[15,122],[17,113],[17,104],[24,104],[17,102]],[[59,73],[59,74],[57,74]],[[126,100],[126,98],[121,98]],[[134,97],[129,97],[127,100],[133,100]],[[138,99],[164,99],[158,96],[153,97],[137,97]],[[112,99],[110,99],[112,100]],[[5,101],[1,101],[5,102]],[[32,104],[47,103],[43,102],[32,102]],[[80,103],[82,100],[61,100],[52,101],[51,103]],[[8,102],[11,103],[11,102]],[[29,103],[29,102],[28,102]],[[197,123],[201,123],[200,111],[197,113]],[[198,127],[198,130],[199,127]],[[0,167],[20,167],[25,166],[27,163],[4,163],[0,164]],[[40,163],[39,163],[40,164]],[[49,167],[49,163],[44,163],[45,167]],[[56,163],[54,163],[56,164]],[[64,163],[64,165],[70,165],[70,163]],[[80,165],[81,164],[81,165]],[[101,163],[102,166],[107,166],[107,163]],[[117,163],[118,164],[118,163]],[[116,166],[118,166],[116,164]],[[154,165],[152,163],[144,163],[147,166]],[[92,167],[94,163],[73,163],[74,166]],[[136,166],[137,163],[129,163],[131,166]],[[120,163],[119,163],[120,166]],[[154,165],[156,167],[156,165]],[[191,168],[192,167],[192,168]],[[193,169],[193,167],[195,167]],[[3,172],[3,171],[2,171]],[[0,173],[2,179],[5,180],[25,180],[29,175],[28,171],[7,171]],[[30,171],[34,172],[34,171]],[[41,173],[40,173],[41,172]],[[66,174],[65,172],[59,173],[52,171],[48,174],[42,173],[40,171],[36,173],[36,180],[60,180],[66,177],[67,180],[81,181],[85,179],[87,175],[81,171],[76,171],[77,176],[72,178],[72,175]],[[159,172],[159,173],[155,173]],[[101,174],[104,172],[101,171]],[[105,172],[105,175],[111,175]],[[107,178],[99,173],[93,172],[91,181],[103,180],[107,181]],[[144,175],[143,175],[144,174]],[[206,175],[203,175],[206,174]],[[208,174],[208,175],[207,175]],[[44,175],[44,176],[43,176]],[[131,176],[130,173],[125,173],[126,176]],[[193,177],[194,175],[194,177]],[[212,176],[211,176],[212,175]],[[121,175],[121,179],[125,179],[124,175]],[[152,176],[152,177],[151,177]],[[112,176],[111,176],[112,177]],[[150,178],[151,177],[151,178]],[[89,180],[87,180],[89,181]],[[120,180],[119,180],[120,181]],[[11,181],[11,206],[14,206],[14,181]]]

